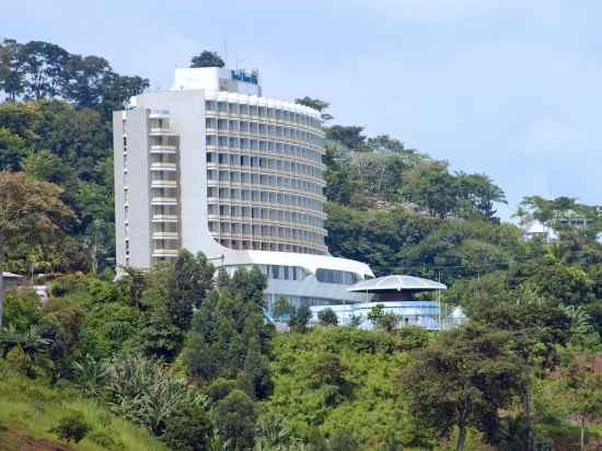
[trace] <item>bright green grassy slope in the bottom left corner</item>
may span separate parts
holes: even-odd
[[[60,418],[80,413],[92,431],[79,443],[61,443],[50,432]],[[60,443],[81,451],[167,451],[150,433],[70,390],[51,390],[12,373],[0,378],[0,451],[12,451],[19,436]],[[53,449],[53,448],[31,448]]]

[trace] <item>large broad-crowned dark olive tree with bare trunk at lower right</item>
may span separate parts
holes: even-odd
[[[506,332],[468,323],[442,333],[403,370],[414,417],[443,437],[458,427],[456,451],[464,449],[468,427],[493,438],[499,409],[522,384],[524,370],[508,339]]]

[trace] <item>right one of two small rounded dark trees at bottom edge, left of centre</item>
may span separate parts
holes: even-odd
[[[216,428],[228,442],[228,450],[253,449],[257,410],[253,401],[242,391],[233,390],[219,401],[213,409]]]

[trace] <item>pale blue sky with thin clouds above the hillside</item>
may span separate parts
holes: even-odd
[[[602,2],[3,0],[0,38],[97,55],[169,88],[204,49],[266,96],[485,173],[507,194],[602,205]]]

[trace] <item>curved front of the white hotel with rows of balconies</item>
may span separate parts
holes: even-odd
[[[234,250],[326,254],[315,112],[228,92],[205,105],[211,235]]]

